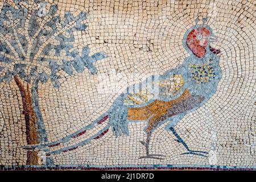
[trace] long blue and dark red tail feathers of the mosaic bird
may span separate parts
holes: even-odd
[[[108,120],[108,118],[109,118],[109,115],[105,113],[104,115],[101,115],[101,117],[99,117],[89,125],[84,126],[80,130],[76,131],[75,133],[69,134],[66,137],[56,140],[55,142],[47,142],[47,143],[40,143],[36,145],[22,146],[22,148],[27,150],[45,151],[46,156],[49,156],[51,154],[60,154],[61,152],[75,150],[79,146],[83,146],[86,143],[90,143],[93,139],[99,139],[103,135],[105,135],[109,131],[109,127],[110,127],[109,123],[105,122],[106,120]],[[88,133],[90,137],[81,141],[80,136],[84,135],[85,133]],[[70,146],[68,145],[69,143],[71,143]]]

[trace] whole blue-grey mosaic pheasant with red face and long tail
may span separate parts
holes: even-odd
[[[196,24],[185,32],[183,46],[189,53],[182,64],[169,69],[163,75],[152,75],[138,84],[129,86],[125,92],[119,95],[105,114],[91,122],[82,129],[67,135],[67,137],[55,142],[40,143],[37,145],[23,146],[28,150],[46,151],[46,156],[60,154],[75,150],[80,146],[100,139],[109,128],[113,134],[129,135],[129,122],[146,121],[144,132],[146,141],[141,141],[146,148],[146,155],[140,158],[163,159],[164,155],[150,154],[150,139],[156,128],[168,122],[165,129],[171,131],[176,141],[183,144],[187,152],[191,154],[207,156],[207,151],[191,150],[174,129],[174,126],[186,114],[198,109],[216,92],[218,82],[221,79],[221,69],[218,63],[220,50],[210,46],[216,41],[212,28],[208,26],[207,18],[202,24]],[[107,123],[103,129],[89,138],[83,139],[83,135],[92,130],[96,125]],[[74,142],[75,139],[77,142]],[[71,144],[65,144],[69,143]],[[75,144],[74,144],[75,143]]]

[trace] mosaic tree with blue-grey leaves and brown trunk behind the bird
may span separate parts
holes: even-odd
[[[3,2],[0,13],[0,82],[9,83],[14,78],[19,88],[27,144],[47,142],[38,99],[39,82],[50,80],[59,88],[61,71],[73,75],[85,67],[96,74],[93,63],[106,57],[104,52],[89,56],[88,46],[82,48],[81,54],[73,47],[73,32],[87,27],[83,23],[86,12],[73,16],[66,11],[60,18],[56,11],[57,5],[43,1],[14,0]],[[27,164],[39,164],[37,151],[27,152]]]

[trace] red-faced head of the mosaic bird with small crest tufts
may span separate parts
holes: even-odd
[[[216,55],[220,53],[219,49],[210,47],[210,43],[217,40],[217,37],[213,35],[212,28],[210,28],[205,22],[207,18],[203,19],[203,24],[197,24],[191,27],[184,35],[184,46],[189,49],[189,52],[196,57],[203,57],[207,51],[211,51]]]

